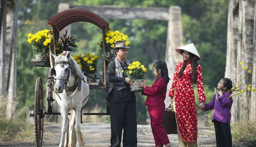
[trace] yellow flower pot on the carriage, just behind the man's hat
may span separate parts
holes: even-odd
[[[115,50],[113,49],[113,47],[115,46],[115,42],[117,41],[124,41],[126,46],[128,46],[130,44],[129,41],[127,41],[126,39],[128,38],[127,35],[124,35],[124,33],[120,33],[119,31],[107,31],[106,32],[106,36],[105,36],[105,57],[106,60],[111,62],[115,59],[116,55],[115,55]],[[102,39],[102,38],[101,38]],[[100,43],[98,43],[99,45],[99,52],[103,55],[103,43],[102,41]]]

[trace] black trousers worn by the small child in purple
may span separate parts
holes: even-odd
[[[232,147],[232,135],[230,124],[223,123],[214,119],[214,128],[217,147]]]

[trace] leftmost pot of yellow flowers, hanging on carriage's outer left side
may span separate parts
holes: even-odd
[[[50,35],[49,35],[50,33]],[[49,39],[50,36],[50,39]],[[49,61],[49,45],[52,42],[52,32],[48,29],[38,31],[35,34],[28,34],[28,42],[32,44],[35,59],[39,62]]]

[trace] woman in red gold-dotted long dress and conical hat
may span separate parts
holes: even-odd
[[[197,147],[197,111],[193,83],[197,84],[199,107],[204,108],[206,101],[202,69],[197,63],[200,56],[193,43],[177,48],[176,51],[183,55],[184,61],[176,64],[169,91],[169,105],[174,106],[176,112],[179,146]]]

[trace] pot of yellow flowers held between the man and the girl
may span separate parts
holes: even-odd
[[[121,71],[123,72],[123,71]],[[136,81],[143,81],[144,75],[147,73],[147,69],[144,65],[141,65],[139,61],[132,62],[129,64],[128,70],[124,72],[127,77],[131,78],[134,81],[134,84],[131,86],[132,92],[143,92],[143,88],[138,87]]]

